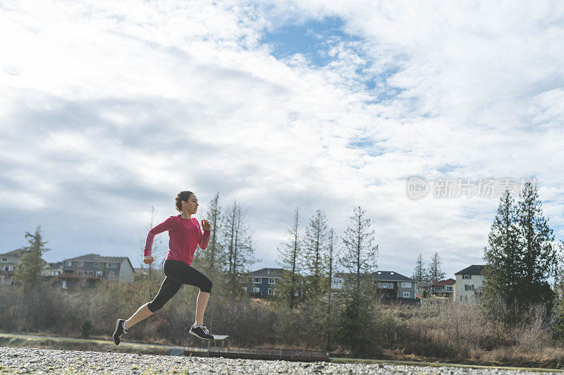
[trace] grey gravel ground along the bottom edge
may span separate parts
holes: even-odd
[[[336,364],[113,352],[0,348],[0,374],[564,374],[501,369],[418,367],[399,364]]]

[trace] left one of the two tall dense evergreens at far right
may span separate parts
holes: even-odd
[[[489,316],[510,325],[517,319],[518,289],[525,274],[516,214],[515,201],[505,190],[488,235],[489,245],[484,247],[483,307]]]

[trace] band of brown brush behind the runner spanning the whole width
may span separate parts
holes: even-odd
[[[153,281],[155,290],[158,282]],[[196,288],[183,288],[163,309],[130,330],[128,341],[183,345],[193,319]],[[118,317],[150,300],[149,283],[100,283],[92,289],[63,290],[43,285],[30,293],[0,288],[0,330],[79,337],[92,321],[90,336],[108,338]],[[336,305],[339,305],[338,303]],[[336,307],[337,314],[342,309]],[[553,340],[539,308],[527,324],[513,328],[488,321],[478,305],[425,301],[421,305],[375,305],[371,357],[427,359],[474,364],[557,367],[564,348]],[[229,297],[210,299],[206,322],[213,333],[228,334],[237,346],[323,350],[326,327],[307,307],[290,309],[276,301]],[[333,355],[347,355],[334,348]]]

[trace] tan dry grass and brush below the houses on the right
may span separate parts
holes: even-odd
[[[551,337],[546,312],[532,307],[513,328],[486,319],[479,305],[450,300],[424,301],[419,306],[379,305],[376,312],[396,321],[391,350],[447,362],[564,367],[562,343]]]

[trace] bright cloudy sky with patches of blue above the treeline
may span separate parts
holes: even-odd
[[[564,238],[561,2],[6,0],[0,35],[0,252],[42,226],[48,261],[137,266],[191,190],[198,219],[248,207],[258,266],[295,207],[342,234],[360,204],[381,270],[453,277],[482,264],[480,179],[536,180]]]

